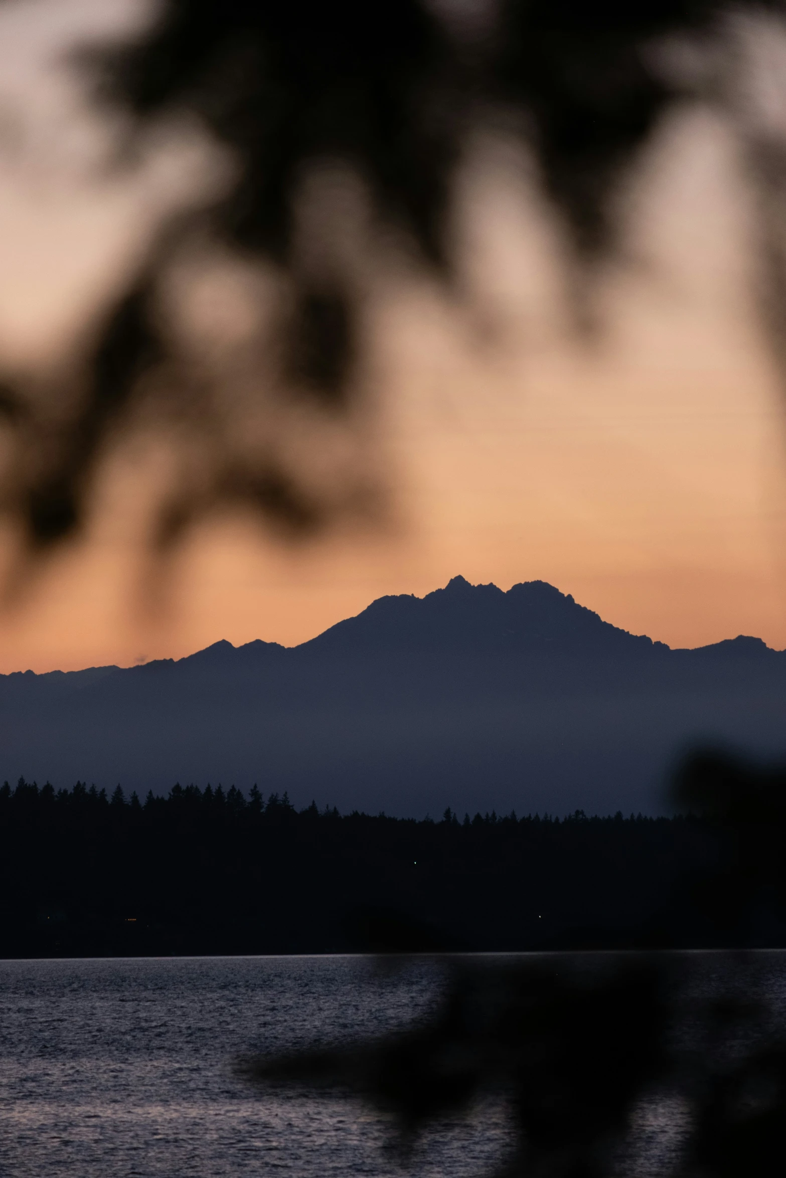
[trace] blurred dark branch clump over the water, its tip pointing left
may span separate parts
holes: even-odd
[[[600,977],[551,966],[464,967],[423,1028],[376,1048],[304,1052],[249,1065],[252,1078],[349,1087],[392,1111],[403,1143],[482,1093],[511,1101],[521,1150],[511,1173],[601,1173],[661,1063],[659,977],[646,964]]]

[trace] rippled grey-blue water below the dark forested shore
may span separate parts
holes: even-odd
[[[695,962],[698,993],[732,978],[786,1017],[785,953]],[[424,959],[392,974],[352,957],[0,961],[0,1174],[481,1174],[504,1156],[503,1110],[438,1124],[402,1169],[362,1104],[260,1094],[232,1071],[244,1053],[404,1026],[442,980]],[[668,1172],[687,1111],[653,1098],[633,1119],[621,1172]]]

